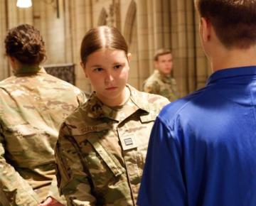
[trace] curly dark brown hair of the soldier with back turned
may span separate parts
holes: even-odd
[[[4,40],[6,55],[25,65],[39,65],[46,58],[46,48],[38,31],[28,24],[11,28]]]

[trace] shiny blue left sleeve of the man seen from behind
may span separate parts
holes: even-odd
[[[186,187],[181,166],[181,144],[159,117],[151,131],[139,206],[185,206]]]

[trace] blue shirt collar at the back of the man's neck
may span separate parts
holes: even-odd
[[[256,65],[247,67],[233,67],[214,72],[207,80],[206,85],[210,85],[218,80],[230,77],[241,77],[246,75],[256,75]]]

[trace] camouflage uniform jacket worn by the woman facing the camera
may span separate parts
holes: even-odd
[[[127,87],[123,106],[107,107],[93,93],[63,123],[55,156],[68,205],[136,205],[151,127],[169,101]]]

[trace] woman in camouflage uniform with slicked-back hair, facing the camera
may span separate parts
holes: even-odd
[[[68,205],[136,205],[151,127],[169,101],[127,85],[127,50],[116,28],[93,28],[82,40],[95,92],[65,120],[55,147]]]

